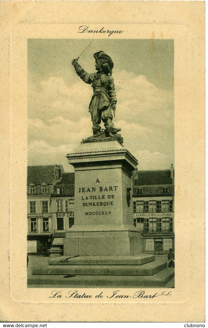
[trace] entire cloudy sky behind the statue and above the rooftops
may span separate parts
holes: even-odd
[[[113,123],[138,170],[174,164],[173,40],[28,40],[28,165],[63,164],[83,138],[92,135],[88,112],[93,94],[71,60],[95,71],[93,54],[103,50],[114,62],[117,105]],[[101,123],[103,128],[103,123]]]

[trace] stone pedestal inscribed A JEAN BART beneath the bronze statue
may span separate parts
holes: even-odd
[[[75,169],[75,224],[64,238],[64,255],[142,253],[130,200],[136,158],[117,140],[83,143],[66,157]]]

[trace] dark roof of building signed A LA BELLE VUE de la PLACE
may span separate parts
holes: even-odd
[[[134,186],[173,184],[170,171],[171,170],[138,171],[137,177],[134,179]]]

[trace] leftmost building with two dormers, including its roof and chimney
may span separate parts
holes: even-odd
[[[63,172],[62,165],[27,168],[27,252],[40,254],[50,248],[53,236],[51,194]]]

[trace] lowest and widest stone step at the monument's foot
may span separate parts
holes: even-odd
[[[165,286],[174,277],[173,268],[165,268],[152,276],[60,276],[32,275],[28,278],[28,288],[157,288]],[[173,287],[173,286],[172,286]],[[169,287],[170,288],[170,287]]]

